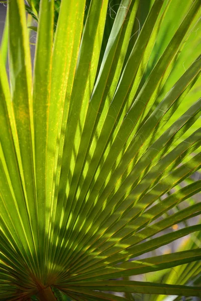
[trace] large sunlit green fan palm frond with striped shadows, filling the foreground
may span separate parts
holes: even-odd
[[[111,280],[201,258],[199,248],[135,258],[201,229],[163,232],[199,215],[196,202],[160,219],[201,190],[201,181],[179,187],[201,165],[201,60],[192,38],[200,2],[178,2],[166,37],[173,1],[150,2],[145,18],[137,0],[114,9],[107,0],[62,0],[54,36],[54,3],[41,0],[33,79],[25,5],[9,2],[10,85],[0,58],[1,300],[54,300],[56,291],[78,301],[122,299],[107,291],[200,296],[198,286]]]

